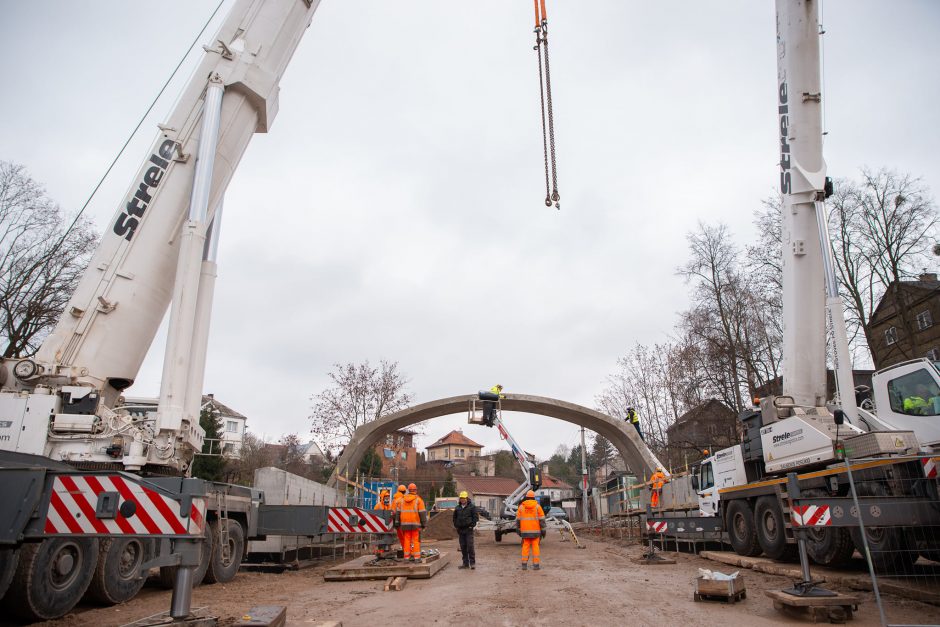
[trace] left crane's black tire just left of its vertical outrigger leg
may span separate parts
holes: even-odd
[[[141,565],[153,554],[152,541],[145,538],[105,538],[98,549],[98,566],[88,586],[88,595],[104,605],[130,601],[147,581]],[[143,576],[141,576],[143,575]]]

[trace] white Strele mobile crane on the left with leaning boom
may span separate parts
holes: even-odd
[[[30,620],[86,590],[133,597],[160,567],[171,619],[192,586],[234,577],[249,538],[319,535],[327,509],[263,503],[188,475],[199,426],[222,200],[319,0],[238,0],[206,48],[117,208],[54,331],[34,358],[0,364],[0,597]],[[123,391],[172,303],[157,411]],[[360,523],[384,520],[360,512]],[[373,525],[374,526],[374,525]],[[379,524],[378,528],[383,528]]]

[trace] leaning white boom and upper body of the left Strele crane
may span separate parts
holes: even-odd
[[[168,350],[168,360],[185,362],[186,368],[181,371],[179,363],[165,364],[164,378],[166,369],[173,370],[173,382],[167,392],[164,381],[155,424],[146,428],[125,424],[110,408],[137,377],[171,300],[188,300],[174,302],[174,311],[178,306],[188,307],[181,316],[188,320],[177,329],[175,340],[171,330],[170,343],[177,347],[204,343],[205,338],[198,336],[207,327],[199,323],[199,316],[205,315],[211,302],[211,293],[205,293],[211,289],[199,286],[211,281],[200,281],[200,274],[214,274],[214,260],[199,258],[201,245],[249,141],[255,133],[267,132],[274,121],[281,76],[319,3],[238,0],[233,6],[215,44],[205,48],[178,104],[159,126],[159,136],[55,329],[35,359],[13,369],[20,390],[41,387],[70,395],[64,404],[50,407],[46,416],[78,411],[69,407],[75,398],[95,399],[91,412],[86,403],[81,409],[83,418],[53,419],[45,442],[35,437],[20,444],[15,436],[0,437],[0,448],[91,463],[114,463],[115,457],[121,457],[114,451],[124,451],[123,463],[129,469],[155,464],[185,470],[204,436],[198,424],[199,403],[194,401],[201,392],[195,383],[201,383],[202,375],[193,371],[199,363],[188,363],[201,361],[198,348],[192,360],[179,350],[171,360]],[[199,181],[197,155],[204,139],[204,112],[210,108],[207,94],[221,93],[212,85],[221,87],[224,98],[217,107],[215,149],[203,157],[204,161],[212,157],[213,167]],[[194,220],[187,210],[195,206],[197,196],[204,211],[197,212]],[[218,224],[212,228],[217,231]],[[193,234],[195,242],[189,248],[199,250],[193,263],[184,264],[179,263],[180,243],[187,233]],[[210,243],[207,249],[214,245]],[[197,310],[199,314],[194,313]],[[70,391],[63,392],[66,389]],[[187,394],[192,398],[184,403]],[[118,437],[129,437],[134,444],[118,445]],[[103,442],[112,446],[110,455]],[[129,460],[130,448],[134,450]]]

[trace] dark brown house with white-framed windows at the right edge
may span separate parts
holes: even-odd
[[[940,361],[940,281],[934,273],[888,286],[869,319],[868,348],[876,368],[907,359]]]

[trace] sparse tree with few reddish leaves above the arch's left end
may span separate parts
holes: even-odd
[[[333,385],[310,399],[312,432],[324,448],[348,442],[362,425],[411,403],[405,391],[408,380],[398,371],[398,362],[383,360],[378,368],[368,361],[333,368],[329,373]]]

